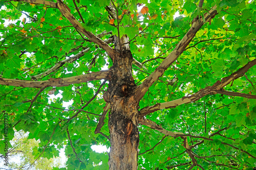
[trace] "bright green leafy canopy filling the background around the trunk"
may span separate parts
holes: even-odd
[[[140,108],[180,99],[211,86],[256,56],[254,1],[204,1],[202,8],[198,7],[198,1],[118,1],[118,4],[114,3],[118,5],[121,19],[119,29],[116,27],[117,19],[111,20],[113,18],[105,8],[110,1],[76,1],[82,19],[73,1],[64,3],[88,31],[95,35],[104,31],[112,32],[104,35],[102,40],[118,35],[118,31],[120,35],[130,37],[133,57],[145,67],[133,65],[137,85],[173,50],[187,33],[193,19],[198,15],[202,17],[217,5],[218,14],[202,26],[184,53],[150,87],[140,102]],[[3,78],[40,81],[83,75],[112,66],[105,51],[77,31],[58,9],[23,1],[1,1],[0,6],[0,74]],[[176,13],[180,16],[174,18]],[[20,19],[24,14],[26,17]],[[137,18],[137,14],[141,16]],[[6,21],[11,23],[6,26]],[[114,45],[113,41],[110,45]],[[87,48],[90,50],[73,62],[63,63],[47,76],[34,78]],[[254,66],[226,86],[225,90],[255,95],[255,75]],[[68,169],[108,169],[108,154],[96,153],[91,149],[94,144],[110,147],[106,137],[94,133],[105,106],[102,94],[108,87],[106,82],[96,93],[101,83],[102,80],[94,80],[56,87],[56,90],[46,87],[39,94],[37,88],[0,85],[1,114],[9,115],[8,138],[14,137],[15,127],[17,131],[29,132],[29,139],[40,139],[39,149],[33,152],[34,158],[42,152],[48,159],[58,156],[58,150],[66,145]],[[61,94],[61,97],[49,101],[51,93]],[[93,95],[96,98],[90,101]],[[31,102],[33,99],[35,101]],[[73,103],[64,110],[63,102],[69,101]],[[67,121],[77,112],[75,109],[87,103],[84,109],[87,113],[81,112]],[[212,94],[197,102],[159,110],[145,117],[169,131],[193,136],[209,137],[225,128],[210,137],[213,140],[205,140],[192,150],[201,165],[194,169],[252,169],[256,166],[255,103],[255,99]],[[101,132],[108,136],[108,116],[104,122]],[[4,133],[3,120],[0,127]],[[182,138],[165,137],[146,126],[140,125],[138,128],[139,169],[187,168],[191,165]],[[201,140],[188,137],[191,145]],[[3,142],[0,142],[0,153],[4,154]]]

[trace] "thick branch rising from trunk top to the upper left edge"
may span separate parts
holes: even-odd
[[[38,0],[35,0],[35,1],[38,1]],[[105,50],[109,54],[110,57],[112,57],[114,54],[117,53],[111,46],[109,46],[103,40],[99,39],[93,33],[84,29],[81,23],[70,13],[69,7],[66,4],[64,4],[61,0],[57,0],[57,8],[61,12],[61,14],[70,21],[70,23],[74,26],[75,29],[79,30],[91,41],[98,44],[103,50]]]

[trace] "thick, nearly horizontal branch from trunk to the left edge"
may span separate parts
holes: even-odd
[[[70,84],[83,83],[93,80],[101,80],[106,79],[109,74],[109,71],[98,71],[98,72],[90,72],[86,75],[81,76],[73,76],[68,78],[50,78],[46,81],[27,81],[27,80],[13,80],[13,79],[4,79],[0,78],[1,85],[7,86],[17,86],[17,87],[33,87],[33,88],[42,88],[42,87],[50,87],[50,86],[68,86]]]

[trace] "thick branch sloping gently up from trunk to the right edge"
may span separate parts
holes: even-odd
[[[140,116],[145,116],[148,113],[152,113],[152,112],[155,112],[160,109],[175,108],[176,106],[179,106],[179,105],[182,105],[185,103],[195,102],[208,94],[216,94],[216,93],[218,93],[219,90],[221,90],[223,87],[228,85],[230,82],[243,76],[245,74],[245,72],[248,71],[248,69],[251,68],[252,66],[254,66],[255,64],[256,64],[256,59],[248,62],[245,66],[240,68],[238,71],[234,72],[232,75],[225,77],[221,81],[217,81],[214,85],[207,86],[192,95],[185,96],[181,99],[177,99],[174,101],[158,103],[153,106],[144,107],[143,109],[140,110]],[[247,97],[249,96],[247,94],[245,94],[245,95]],[[239,95],[239,96],[242,96],[242,95]],[[250,96],[253,97],[254,95],[250,95]]]

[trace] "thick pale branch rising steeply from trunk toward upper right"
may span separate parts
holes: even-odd
[[[164,61],[156,68],[156,70],[139,86],[136,90],[138,94],[138,101],[140,101],[145,95],[148,88],[150,88],[154,82],[156,82],[159,77],[161,77],[164,71],[183,53],[186,46],[189,42],[194,38],[197,31],[204,25],[204,23],[208,22],[211,18],[213,18],[217,11],[215,10],[217,6],[214,6],[209,12],[207,12],[204,16],[205,22],[202,18],[197,19],[193,22],[193,25],[188,30],[187,34],[182,38],[182,40],[177,44],[174,50],[164,59]]]

